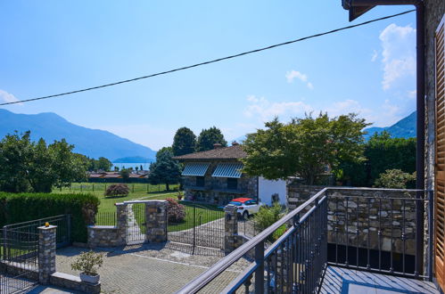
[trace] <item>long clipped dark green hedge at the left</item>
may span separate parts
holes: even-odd
[[[100,200],[92,194],[0,192],[0,226],[48,216],[71,215],[71,240],[87,242]]]

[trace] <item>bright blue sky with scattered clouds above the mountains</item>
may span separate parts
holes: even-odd
[[[348,21],[341,1],[2,1],[0,102],[58,94],[249,51],[412,9],[375,7]],[[153,150],[179,127],[227,141],[264,122],[326,111],[386,127],[416,110],[411,12],[169,75],[38,102]]]

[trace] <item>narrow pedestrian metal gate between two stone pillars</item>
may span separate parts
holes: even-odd
[[[145,241],[145,203],[129,203],[127,206],[127,244]]]

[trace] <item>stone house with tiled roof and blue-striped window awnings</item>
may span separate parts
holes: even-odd
[[[185,199],[226,205],[237,197],[248,197],[271,205],[274,200],[285,204],[286,182],[269,181],[261,176],[243,173],[243,146],[233,143],[222,147],[215,144],[210,151],[194,152],[174,159],[185,164]]]

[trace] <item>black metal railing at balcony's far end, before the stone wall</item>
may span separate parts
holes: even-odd
[[[416,199],[416,191],[405,197],[329,194],[328,262],[358,270],[406,277],[426,277],[424,255],[419,252],[417,209],[428,200]]]

